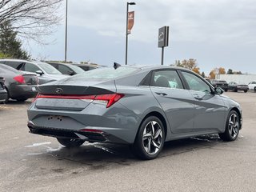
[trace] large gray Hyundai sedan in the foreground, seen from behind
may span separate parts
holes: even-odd
[[[28,127],[67,147],[122,143],[139,158],[153,159],[174,139],[238,138],[242,110],[222,91],[184,68],[104,67],[38,86]]]

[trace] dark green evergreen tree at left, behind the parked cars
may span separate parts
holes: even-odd
[[[11,28],[11,23],[0,23],[0,51],[8,58],[28,59],[30,56],[22,50],[22,42],[17,38],[17,32]]]

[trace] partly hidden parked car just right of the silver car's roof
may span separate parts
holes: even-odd
[[[85,72],[79,66],[74,66],[72,64],[66,64],[66,63],[60,63],[60,62],[47,62],[47,63],[49,63],[51,66],[54,66],[62,74],[74,75],[74,74],[82,74]]]

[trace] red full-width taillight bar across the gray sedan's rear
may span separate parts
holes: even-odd
[[[106,108],[112,106],[115,102],[118,102],[124,94],[98,94],[98,95],[50,95],[50,94],[38,94],[34,99],[38,98],[62,98],[62,99],[81,99],[81,100],[92,100],[92,101],[103,101],[106,102]]]

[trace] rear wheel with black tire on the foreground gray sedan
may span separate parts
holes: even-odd
[[[138,129],[132,152],[144,160],[158,157],[162,151],[166,133],[161,120],[155,116],[146,118]]]

